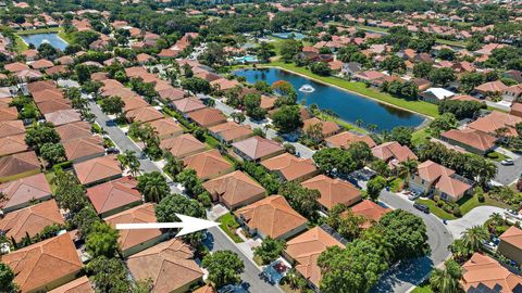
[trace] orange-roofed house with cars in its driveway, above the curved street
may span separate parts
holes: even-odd
[[[469,180],[432,161],[419,164],[417,171],[407,180],[410,189],[423,194],[438,195],[445,201],[457,202],[473,191]]]

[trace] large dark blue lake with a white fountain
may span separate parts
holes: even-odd
[[[362,127],[376,125],[376,131],[390,130],[396,126],[417,127],[424,122],[424,117],[408,111],[393,107],[362,95],[340,90],[335,87],[315,82],[309,78],[288,73],[278,68],[239,69],[234,72],[237,76],[245,76],[248,82],[265,80],[272,85],[277,80],[290,82],[296,90],[303,85],[310,85],[315,90],[307,93],[298,90],[298,100],[306,105],[316,104],[319,109],[331,110],[339,118],[350,124],[356,120],[363,122]]]

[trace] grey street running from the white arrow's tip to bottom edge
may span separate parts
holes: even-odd
[[[248,292],[252,293],[272,293],[272,292],[282,292],[278,286],[271,285],[270,283],[263,281],[259,275],[261,270],[256,266],[252,260],[248,259],[236,244],[228,239],[228,237],[219,228],[212,228],[208,230],[210,234],[206,244],[210,247],[211,252],[215,251],[233,251],[239,255],[245,264],[245,271],[241,273],[243,286]]]

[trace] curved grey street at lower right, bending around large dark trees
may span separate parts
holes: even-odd
[[[421,283],[433,267],[439,266],[449,256],[448,245],[453,241],[451,233],[440,219],[426,215],[413,207],[408,200],[383,190],[380,200],[393,208],[401,208],[420,216],[427,227],[431,255],[402,263],[388,270],[373,288],[372,292],[408,292]]]

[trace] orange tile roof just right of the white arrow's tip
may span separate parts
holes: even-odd
[[[285,233],[302,226],[308,220],[299,215],[285,198],[271,195],[234,212],[250,229],[257,229],[263,235],[278,239]]]

